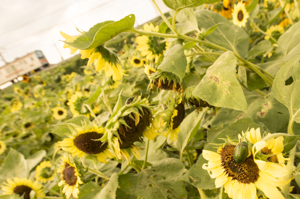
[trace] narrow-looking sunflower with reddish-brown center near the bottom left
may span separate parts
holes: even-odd
[[[67,199],[69,199],[71,195],[73,195],[74,198],[78,198],[79,184],[83,184],[78,169],[76,165],[69,160],[66,154],[64,154],[61,160],[61,166],[57,169],[61,177],[58,186],[64,186],[62,192]]]

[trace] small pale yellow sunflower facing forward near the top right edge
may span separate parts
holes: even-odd
[[[245,4],[240,1],[238,4],[234,5],[234,9],[232,11],[233,23],[239,27],[245,27],[247,23],[247,19],[249,17],[249,13],[245,8]]]

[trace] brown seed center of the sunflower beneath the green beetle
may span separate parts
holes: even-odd
[[[259,177],[259,170],[253,160],[253,156],[250,155],[244,163],[238,164],[234,160],[234,149],[234,145],[226,145],[220,153],[221,165],[225,169],[226,174],[228,174],[228,177],[232,177],[232,180],[237,180],[240,183],[249,184],[256,182]]]

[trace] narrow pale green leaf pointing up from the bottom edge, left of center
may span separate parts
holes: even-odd
[[[115,199],[118,188],[118,174],[113,173],[107,185],[101,190],[99,199]]]

